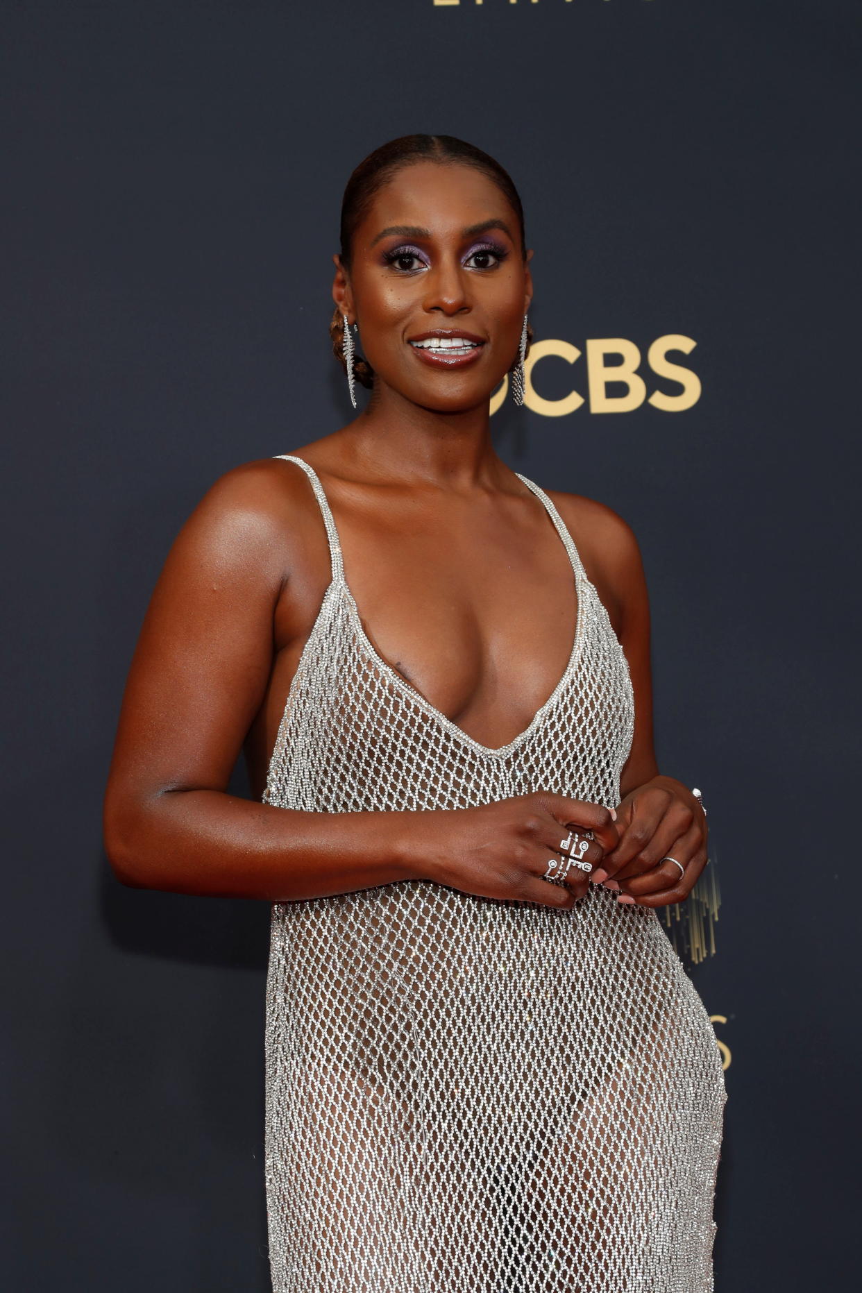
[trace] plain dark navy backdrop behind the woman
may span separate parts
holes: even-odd
[[[521,187],[538,339],[697,343],[673,356],[703,384],[686,411],[509,402],[494,425],[512,465],[605,500],[644,548],[660,765],[704,789],[722,870],[695,971],[733,1056],[717,1289],[849,1289],[858,4],[0,13],[4,1287],[269,1288],[268,909],[124,890],[101,798],[184,518],[349,414],[327,336],[349,171],[438,131]],[[536,389],[587,394],[584,369],[545,359]]]

